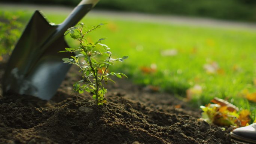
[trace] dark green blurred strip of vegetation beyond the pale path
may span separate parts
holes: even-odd
[[[1,0],[76,6],[80,0]],[[255,0],[101,0],[96,9],[256,21]]]

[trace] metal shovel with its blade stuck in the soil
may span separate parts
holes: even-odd
[[[55,94],[71,65],[62,58],[72,53],[58,53],[69,48],[65,31],[76,25],[99,0],[82,0],[62,24],[50,25],[35,11],[7,63],[3,92],[26,94],[49,100]]]

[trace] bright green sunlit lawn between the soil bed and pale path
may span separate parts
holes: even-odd
[[[27,12],[23,21],[28,21]],[[48,19],[61,23],[66,15],[46,13]],[[87,16],[86,25],[108,23],[88,37],[95,41],[107,37],[103,43],[113,54],[129,56],[112,70],[128,74],[134,82],[142,85],[159,86],[179,98],[186,98],[186,90],[199,85],[202,93],[193,95],[191,104],[198,107],[214,97],[228,99],[232,104],[247,108],[255,117],[256,104],[244,98],[247,89],[255,92],[256,86],[256,31],[224,28],[202,28],[170,24],[135,22],[124,19]],[[71,46],[75,43],[67,39]],[[176,51],[173,56],[163,56],[164,50]],[[209,74],[205,64],[216,62],[219,69]],[[145,73],[141,69],[156,66],[156,71]]]

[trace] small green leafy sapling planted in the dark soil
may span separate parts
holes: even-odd
[[[116,76],[122,78],[127,77],[123,73],[108,72],[110,65],[113,65],[115,61],[123,62],[128,56],[122,58],[113,59],[110,48],[107,45],[101,44],[104,39],[99,39],[95,43],[90,43],[86,39],[86,35],[103,24],[87,28],[83,23],[79,24],[78,27],[71,27],[65,34],[70,33],[70,37],[79,42],[77,48],[65,48],[61,52],[72,52],[76,53],[76,56],[71,58],[63,58],[64,63],[74,64],[80,68],[83,73],[82,80],[74,83],[74,90],[82,94],[84,91],[93,94],[93,98],[97,105],[103,105],[106,103],[104,96],[107,89],[104,88],[103,82],[108,81],[114,82],[110,76]]]

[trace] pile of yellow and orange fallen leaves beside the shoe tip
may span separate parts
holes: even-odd
[[[253,122],[249,110],[239,110],[235,105],[220,98],[211,100],[213,104],[201,106],[202,120],[218,126],[232,126],[234,128],[247,126]]]

